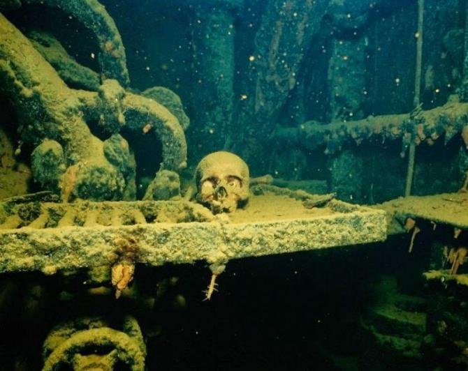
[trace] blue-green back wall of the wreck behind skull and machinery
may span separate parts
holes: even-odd
[[[254,84],[249,75],[249,56],[255,52],[254,38],[261,27],[266,1],[246,1],[234,8],[224,8],[226,17],[221,17],[219,24],[225,27],[230,24],[226,22],[231,17],[234,40],[226,32],[217,33],[217,38],[212,39],[212,42],[214,45],[224,45],[224,54],[231,53],[228,56],[231,62],[227,65],[221,63],[222,54],[215,58],[210,54],[210,59],[203,54],[206,51],[203,47],[203,43],[206,46],[203,32],[206,30],[197,15],[196,2],[187,4],[186,1],[168,3],[145,0],[138,7],[124,0],[102,2],[122,34],[131,86],[139,90],[155,85],[166,86],[181,96],[191,117],[187,139],[189,160],[192,163],[205,153],[226,144],[226,140],[223,140],[226,138],[213,140],[210,129],[224,136],[229,135],[233,142],[231,149],[241,155],[244,151],[243,142],[239,142],[241,137],[235,133],[244,132],[249,135],[249,141],[258,146],[258,157],[263,158],[263,162],[252,165],[254,175],[270,172],[285,179],[327,181],[331,190],[336,190],[340,198],[353,202],[380,202],[402,195],[407,161],[400,158],[399,139],[386,143],[363,142],[359,146],[349,142],[341,151],[327,155],[323,153],[324,149],[311,152],[300,147],[288,148],[284,143],[271,143],[263,137],[257,137],[258,123],[249,116],[240,116],[237,121],[226,123],[226,120],[231,120],[230,112],[226,116],[226,109],[242,109],[242,95],[244,91],[251,91]],[[425,1],[424,109],[443,104],[460,85],[464,4],[463,0],[448,0],[443,4],[437,0]],[[91,56],[96,48],[95,43],[91,37],[87,37],[87,31],[57,11],[41,9],[41,14],[44,11],[54,13],[57,21],[44,22],[46,17],[36,17],[31,22],[36,13],[34,8],[29,15],[24,13],[18,16],[17,21],[22,24],[42,23],[46,29],[53,27],[54,33],[59,39],[66,40],[65,46],[73,50],[73,56],[80,63],[97,70],[96,59]],[[342,101],[334,99],[334,86],[330,82],[340,82],[339,88],[344,92],[345,102],[357,101],[360,105],[360,112],[349,119],[369,114],[411,111],[416,18],[416,2],[400,1],[397,10],[390,11],[388,6],[383,6],[370,12],[367,22],[357,29],[356,35],[348,34],[345,37],[334,21],[326,16],[319,31],[307,45],[308,50],[300,65],[294,89],[284,100],[277,119],[268,123],[268,128],[295,128],[311,119],[323,123],[339,119],[339,114],[333,116],[332,112],[339,112],[338,106]],[[89,43],[82,43],[83,36]],[[228,36],[229,42],[224,43]],[[342,40],[344,44],[339,43]],[[359,58],[363,57],[364,63],[356,63],[360,60],[356,50],[353,50],[356,45],[363,47]],[[337,70],[335,75],[330,76],[332,59],[343,56],[346,47],[349,48],[349,56],[356,56],[354,64],[353,58],[349,58],[348,63],[352,66],[351,70],[360,73],[358,82],[346,75],[349,68]],[[226,109],[214,107],[211,113],[207,113],[203,103],[205,100],[212,103],[213,87],[217,85],[213,71],[219,72],[220,66],[226,68],[226,79],[232,81],[224,80],[224,91],[219,96],[225,92],[227,98],[233,101],[220,101],[219,104],[225,104]],[[203,75],[203,71],[211,72],[212,75]],[[365,93],[362,89],[356,91],[359,84],[363,85]],[[459,188],[467,162],[466,153],[460,147],[458,137],[447,146],[441,140],[432,147],[426,144],[418,146],[414,186],[416,194]]]

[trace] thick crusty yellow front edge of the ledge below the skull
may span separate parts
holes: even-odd
[[[112,203],[108,203],[112,204]],[[119,203],[124,204],[124,203]],[[160,266],[282,254],[386,239],[384,211],[332,201],[330,213],[261,222],[153,222],[135,225],[0,229],[0,272],[112,265]]]

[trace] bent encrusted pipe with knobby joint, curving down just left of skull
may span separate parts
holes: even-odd
[[[180,98],[175,93],[156,86],[151,90],[164,91],[165,96],[169,97],[166,101],[171,101],[171,98],[173,101],[179,100],[179,112],[175,112],[174,105],[171,106],[170,103],[168,105],[159,103],[155,93],[153,96],[156,97],[129,93],[115,79],[106,79],[100,84],[98,74],[76,63],[59,41],[50,34],[34,31],[29,33],[29,38],[65,82],[98,91],[98,96],[88,103],[84,111],[87,116],[98,120],[105,132],[117,133],[122,126],[126,126],[139,135],[145,135],[147,133],[145,130],[152,128],[151,135],[155,135],[155,139],[162,144],[162,167],[176,172],[186,167],[187,144],[184,128],[189,126],[189,118],[185,115]],[[76,90],[73,92],[78,96],[81,95]],[[165,100],[162,100],[164,103]],[[180,119],[177,119],[177,116]]]

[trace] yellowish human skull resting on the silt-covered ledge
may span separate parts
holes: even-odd
[[[205,156],[196,167],[195,179],[197,202],[213,213],[231,213],[249,201],[249,167],[234,153]]]

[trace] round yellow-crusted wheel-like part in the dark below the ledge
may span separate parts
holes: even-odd
[[[78,321],[80,325],[84,323]],[[96,326],[96,322],[91,321],[89,325]],[[54,329],[47,337],[43,371],[57,370],[60,365],[72,365],[75,370],[91,367],[93,370],[113,370],[117,362],[128,365],[133,371],[145,370],[146,347],[140,326],[133,317],[124,318],[124,331],[107,326],[73,331],[70,326],[71,323],[66,323],[64,328]],[[61,338],[63,341],[60,342]],[[52,342],[57,346],[47,349]]]

